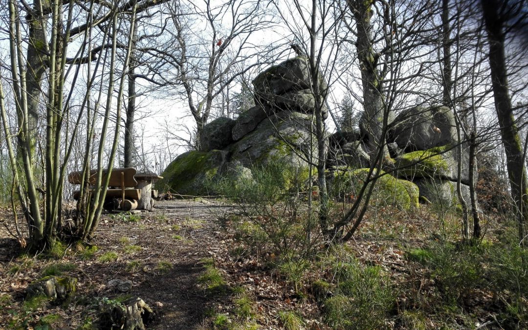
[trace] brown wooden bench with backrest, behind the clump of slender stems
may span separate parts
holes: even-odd
[[[108,183],[108,190],[106,191],[106,199],[120,199],[119,208],[121,210],[135,210],[137,208],[138,200],[141,199],[141,189],[135,188],[137,181],[134,178],[136,175],[135,168],[114,168],[110,171],[110,181]],[[107,178],[107,171],[103,170],[102,181],[105,182]],[[82,172],[72,172],[68,175],[68,181],[71,184],[82,183]],[[97,183],[97,170],[90,171],[90,178],[88,180],[89,192],[93,192],[93,186]],[[73,191],[73,199],[78,200],[81,192],[79,190]]]

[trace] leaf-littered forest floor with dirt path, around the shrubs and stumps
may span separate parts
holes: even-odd
[[[153,308],[152,329],[329,328],[324,300],[314,298],[315,283],[335,274],[304,267],[295,279],[286,274],[295,268],[278,266],[272,250],[250,253],[225,221],[234,208],[219,201],[161,201],[154,212],[105,214],[93,247],[72,244],[52,256],[21,253],[6,230],[11,213],[0,212],[8,224],[0,228],[0,328],[90,329],[102,305],[128,297],[140,297]],[[347,244],[362,264],[382,269],[394,288],[396,301],[382,327],[509,328],[511,323],[502,321],[506,300],[497,301],[482,287],[460,293],[451,311],[434,306],[443,292],[436,279],[441,275],[417,262],[420,248],[437,240],[430,221],[423,211],[411,217],[370,214]],[[412,252],[414,259],[408,257],[413,249],[419,251]],[[74,299],[62,305],[30,301],[25,289],[45,275],[77,278]],[[120,292],[109,285],[114,279],[130,280],[132,286]],[[332,294],[327,291],[325,296]],[[455,310],[457,304],[462,311]]]

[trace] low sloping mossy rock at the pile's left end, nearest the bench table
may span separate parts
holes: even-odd
[[[222,150],[193,150],[181,154],[163,171],[163,179],[156,182],[156,188],[182,195],[207,195],[210,193],[207,181],[218,172],[226,159],[227,152]]]

